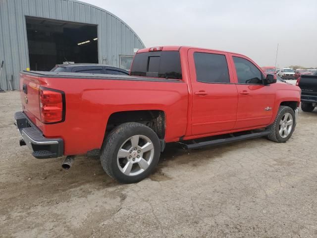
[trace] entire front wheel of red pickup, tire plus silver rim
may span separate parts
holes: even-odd
[[[295,113],[293,109],[287,106],[280,106],[276,118],[269,126],[269,140],[275,142],[286,142],[292,136],[296,126]]]

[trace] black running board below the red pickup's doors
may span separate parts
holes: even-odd
[[[203,142],[194,143],[194,144],[184,144],[184,143],[181,143],[181,144],[182,144],[182,146],[185,147],[185,149],[199,149],[199,148],[203,148],[205,146],[220,145],[220,144],[230,143],[230,142],[239,141],[239,140],[246,140],[246,139],[262,137],[262,136],[268,135],[269,133],[270,133],[269,130],[264,130],[262,132],[255,132],[255,133],[246,134],[246,135],[239,135],[239,136],[229,137],[229,138],[225,138],[225,139],[215,139],[215,140],[203,141]]]

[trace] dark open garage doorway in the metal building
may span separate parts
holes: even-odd
[[[64,62],[98,63],[97,25],[26,16],[31,70]]]

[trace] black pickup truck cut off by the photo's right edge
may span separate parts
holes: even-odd
[[[317,106],[317,71],[313,75],[302,74],[296,81],[302,90],[301,108],[304,112],[313,112]]]

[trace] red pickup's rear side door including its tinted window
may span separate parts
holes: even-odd
[[[229,70],[228,55],[209,50],[188,52],[192,85],[192,134],[233,129],[238,93]]]

